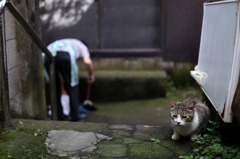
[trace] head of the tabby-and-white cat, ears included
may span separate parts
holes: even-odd
[[[189,122],[192,122],[194,116],[195,102],[182,103],[182,102],[170,102],[170,119],[173,125],[184,126]]]

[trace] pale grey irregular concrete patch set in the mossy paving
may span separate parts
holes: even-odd
[[[93,132],[52,130],[48,133],[45,143],[53,155],[75,157],[74,155],[80,152],[89,155],[97,148],[95,146],[97,142],[104,139],[110,140],[111,138],[102,134],[95,135]]]

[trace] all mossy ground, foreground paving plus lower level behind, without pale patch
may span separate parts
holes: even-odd
[[[191,93],[194,94],[193,91]],[[173,100],[182,100],[186,95],[189,94],[168,94]],[[166,98],[96,105],[99,110],[80,122],[12,119],[12,127],[0,131],[0,158],[69,158],[49,153],[45,141],[52,130],[92,132],[111,138],[92,143],[95,147],[92,151],[79,149],[77,153],[69,153],[73,159],[172,159],[191,153],[192,142],[188,138],[180,141],[171,139]]]

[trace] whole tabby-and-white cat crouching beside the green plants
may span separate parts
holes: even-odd
[[[197,131],[207,126],[210,119],[209,108],[196,97],[189,97],[182,102],[169,102],[170,120],[174,131],[172,139],[191,136],[191,140],[195,140]]]

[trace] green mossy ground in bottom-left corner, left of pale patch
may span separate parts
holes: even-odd
[[[9,129],[8,132],[11,140],[0,142],[0,158],[61,158],[48,153],[45,136],[34,136],[33,131],[24,129]]]

